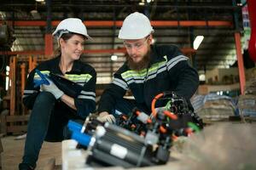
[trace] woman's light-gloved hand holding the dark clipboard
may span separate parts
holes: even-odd
[[[55,96],[55,99],[60,99],[64,93],[59,88],[57,88],[55,83],[49,80],[49,78],[46,79],[49,82],[49,85],[42,84],[40,86],[40,90],[53,94]]]

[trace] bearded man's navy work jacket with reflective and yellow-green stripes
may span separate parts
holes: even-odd
[[[98,111],[108,111],[113,116],[121,113],[127,115],[137,107],[150,114],[154,96],[165,91],[173,91],[182,96],[193,109],[189,99],[198,88],[199,77],[188,60],[176,46],[151,45],[148,68],[132,71],[126,61],[102,94]],[[123,99],[127,90],[131,90],[135,100]],[[166,102],[158,101],[156,107],[165,105]]]

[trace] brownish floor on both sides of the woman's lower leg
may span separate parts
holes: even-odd
[[[18,169],[18,165],[23,156],[25,139],[16,140],[15,136],[7,136],[2,138],[2,144],[2,169]],[[49,161],[53,160],[53,158],[55,159],[55,169],[61,169],[61,142],[44,142],[40,151],[37,169],[44,169],[47,165],[49,165]]]

